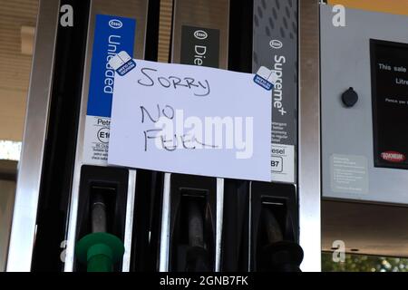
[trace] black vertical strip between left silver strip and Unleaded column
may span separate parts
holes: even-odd
[[[61,252],[66,239],[73,181],[89,14],[89,3],[63,0],[60,5],[67,2],[78,11],[75,14],[77,21],[70,28],[60,25],[57,31],[32,271],[63,269]],[[70,50],[73,46],[77,47],[74,51]]]

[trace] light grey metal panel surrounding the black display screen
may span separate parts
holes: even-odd
[[[323,196],[408,204],[408,170],[374,168],[370,38],[408,43],[408,17],[346,9],[345,27],[332,24],[332,6],[321,7],[322,167]],[[353,87],[359,100],[345,109],[342,92]],[[367,160],[368,189],[362,193],[334,190],[333,154]]]

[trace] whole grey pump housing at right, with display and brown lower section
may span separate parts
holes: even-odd
[[[319,8],[323,248],[332,251],[341,232],[346,252],[405,256],[405,218],[396,217],[407,211],[406,5],[329,0]],[[393,218],[376,221],[380,211]]]

